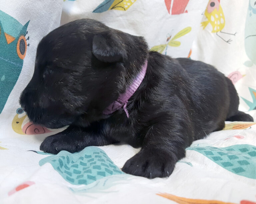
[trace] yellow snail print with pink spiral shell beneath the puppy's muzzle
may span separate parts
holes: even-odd
[[[28,120],[28,117],[22,108],[16,110],[16,115],[12,120],[12,129],[20,135],[37,135],[50,133],[51,130],[40,125],[36,125]]]

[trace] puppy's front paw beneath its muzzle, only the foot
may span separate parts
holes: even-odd
[[[57,154],[62,150],[74,153],[82,149],[76,140],[65,137],[65,134],[61,132],[45,138],[40,146],[41,151],[52,154]]]

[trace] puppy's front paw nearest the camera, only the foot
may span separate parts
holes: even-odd
[[[142,149],[126,161],[122,171],[147,178],[167,177],[172,173],[175,164],[176,160],[171,154]]]

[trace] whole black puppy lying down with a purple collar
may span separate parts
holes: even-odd
[[[40,150],[141,146],[122,170],[148,178],[169,176],[185,148],[222,130],[225,120],[253,121],[238,111],[232,82],[213,66],[149,51],[142,37],[90,19],[41,40],[20,104],[35,124],[69,125]]]

